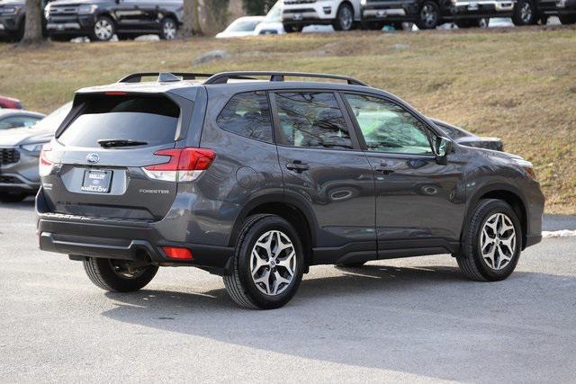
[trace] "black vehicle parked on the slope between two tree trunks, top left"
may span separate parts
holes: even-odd
[[[107,41],[157,34],[172,40],[182,25],[183,0],[57,0],[44,10],[52,40],[87,36]]]

